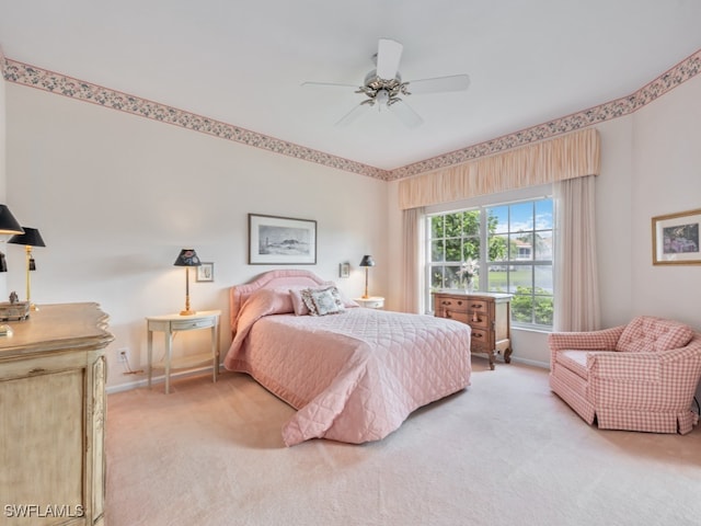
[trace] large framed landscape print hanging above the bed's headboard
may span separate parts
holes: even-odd
[[[249,264],[317,264],[317,221],[249,214]]]

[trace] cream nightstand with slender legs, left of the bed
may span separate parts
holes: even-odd
[[[211,364],[214,381],[219,374],[219,317],[220,310],[203,310],[189,316],[164,315],[147,317],[148,327],[148,385],[151,387],[153,368],[165,369],[165,395],[171,388],[171,369],[191,369]],[[172,357],[173,333],[177,331],[211,330],[211,351],[179,358]],[[162,362],[153,363],[153,331],[161,331],[165,339],[165,357]]]

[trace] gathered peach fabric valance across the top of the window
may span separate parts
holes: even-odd
[[[600,172],[596,128],[464,162],[399,182],[402,210]]]

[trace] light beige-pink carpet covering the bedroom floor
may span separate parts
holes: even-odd
[[[294,410],[241,374],[108,397],[108,526],[698,525],[701,430],[600,431],[548,371],[473,357],[472,385],[383,441],[287,448]]]

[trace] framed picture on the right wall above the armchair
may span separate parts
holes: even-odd
[[[653,217],[654,265],[701,265],[701,209]]]

